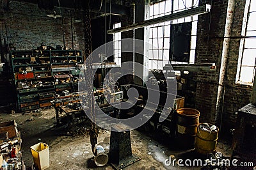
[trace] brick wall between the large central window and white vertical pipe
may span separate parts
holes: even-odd
[[[211,4],[211,2],[207,2]],[[216,63],[217,72],[194,73],[196,81],[195,108],[200,111],[200,121],[214,123],[218,79],[220,73],[227,1],[213,1],[211,13],[198,15],[195,63]]]

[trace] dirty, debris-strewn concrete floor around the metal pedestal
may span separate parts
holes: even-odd
[[[72,137],[67,134],[65,125],[56,126],[53,108],[44,109],[42,112],[30,112],[28,114],[9,114],[0,112],[0,121],[16,120],[17,128],[22,137],[22,153],[26,167],[33,165],[30,146],[43,142],[49,144],[50,167],[48,169],[113,169],[107,164],[104,167],[95,167],[91,164],[93,157],[90,145],[90,137]],[[98,143],[109,150],[110,132],[100,130]],[[164,160],[172,155],[172,158],[196,158],[194,150],[178,150],[170,139],[164,139],[159,135],[145,135],[137,130],[131,132],[132,153],[141,157],[139,162],[124,169],[200,169],[201,167],[165,166]],[[223,155],[230,155],[230,143],[218,142],[217,151]],[[177,163],[177,162],[176,162]]]

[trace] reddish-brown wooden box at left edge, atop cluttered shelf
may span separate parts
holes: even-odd
[[[18,130],[17,124],[15,120],[12,121],[4,121],[0,123],[0,133],[8,132],[8,137],[13,138],[17,137]]]

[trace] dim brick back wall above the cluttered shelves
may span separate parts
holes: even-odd
[[[59,14],[59,9],[55,8]],[[63,47],[63,33],[61,19],[52,19],[47,14],[53,14],[52,10],[38,8],[37,4],[10,1],[8,11],[4,11],[8,42],[13,43],[17,50],[32,50],[45,45],[61,45]],[[74,18],[82,17],[82,12],[75,12],[61,8],[63,16],[63,31],[65,35],[65,46],[72,48],[71,16],[73,19],[74,49],[84,51],[84,24],[74,22]],[[0,21],[1,40],[6,39],[4,20]],[[7,41],[6,41],[7,43]]]

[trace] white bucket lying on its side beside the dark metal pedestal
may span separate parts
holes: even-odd
[[[97,145],[94,148],[96,157],[94,162],[97,166],[105,166],[108,163],[108,155],[105,153],[105,150],[102,146]]]

